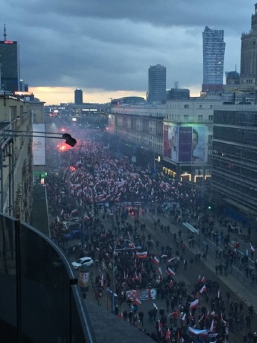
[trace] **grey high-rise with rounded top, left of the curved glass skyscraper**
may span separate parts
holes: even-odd
[[[147,102],[162,103],[166,100],[166,67],[157,64],[148,69]]]

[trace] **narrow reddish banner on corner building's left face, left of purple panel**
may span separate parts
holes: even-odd
[[[177,162],[178,154],[178,126],[164,124],[163,131],[164,156]]]

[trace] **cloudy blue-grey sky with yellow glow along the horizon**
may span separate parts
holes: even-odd
[[[205,25],[224,29],[224,71],[235,64],[240,71],[240,38],[250,29],[255,2],[0,0],[0,29],[5,23],[7,39],[20,43],[24,81],[43,87],[34,88],[40,96],[55,94],[56,103],[65,101],[61,93],[73,99],[75,87],[87,94],[84,102],[145,95],[148,67],[157,63],[167,67],[167,88],[178,81],[196,94]]]

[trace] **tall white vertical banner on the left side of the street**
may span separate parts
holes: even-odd
[[[33,124],[33,131],[45,132],[45,124]],[[44,133],[34,133],[35,135],[45,136]],[[33,135],[33,165],[46,165],[46,138],[34,137]]]

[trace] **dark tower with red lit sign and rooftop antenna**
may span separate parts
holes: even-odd
[[[4,25],[4,40],[0,40],[0,90],[20,90],[20,49],[19,43],[6,39]]]

